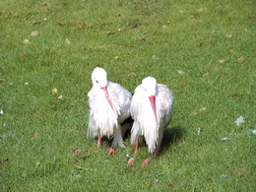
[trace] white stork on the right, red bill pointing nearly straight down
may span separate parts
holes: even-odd
[[[163,128],[170,121],[173,96],[170,90],[158,84],[153,77],[147,77],[135,90],[131,101],[130,112],[134,119],[131,131],[131,144],[135,144],[134,154],[138,153],[139,136],[145,137],[151,154],[158,155],[163,135]],[[149,163],[144,160],[142,166]],[[133,164],[133,159],[128,160],[128,165]]]

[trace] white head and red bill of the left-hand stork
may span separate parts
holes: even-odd
[[[94,87],[101,89],[104,92],[104,95],[110,104],[111,108],[113,109],[113,104],[110,99],[110,96],[107,92],[107,76],[106,71],[100,67],[96,67],[96,69],[92,73],[92,82]]]

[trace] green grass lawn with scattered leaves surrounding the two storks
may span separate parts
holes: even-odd
[[[255,9],[253,0],[2,0],[0,190],[255,191]],[[86,139],[96,66],[131,92],[154,76],[175,96],[160,157],[145,169],[143,143],[127,167],[129,138],[114,158],[107,142]]]

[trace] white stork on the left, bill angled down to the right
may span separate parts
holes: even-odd
[[[113,137],[108,156],[114,156],[117,146],[125,147],[122,138],[123,122],[130,117],[132,94],[119,84],[108,82],[106,71],[96,67],[92,73],[93,88],[88,93],[90,119],[88,137]]]

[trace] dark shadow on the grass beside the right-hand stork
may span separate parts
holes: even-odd
[[[184,138],[185,129],[180,126],[175,126],[172,128],[166,127],[163,131],[163,137],[160,145],[160,154],[163,154],[171,148],[171,145],[177,143],[179,140]]]

